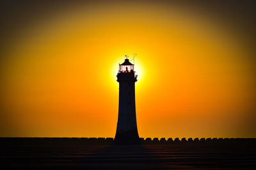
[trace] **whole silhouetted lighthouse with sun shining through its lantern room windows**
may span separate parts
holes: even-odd
[[[134,64],[129,62],[127,55],[123,64],[119,64],[117,81],[119,82],[118,122],[115,144],[138,144],[139,134],[136,122],[135,82],[137,75]]]

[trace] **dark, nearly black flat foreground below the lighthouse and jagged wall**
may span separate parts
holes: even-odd
[[[1,169],[256,169],[255,142],[2,142],[0,150]]]

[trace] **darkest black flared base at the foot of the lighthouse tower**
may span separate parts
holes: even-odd
[[[140,144],[140,138],[138,131],[116,132],[114,139],[116,145],[138,145]]]

